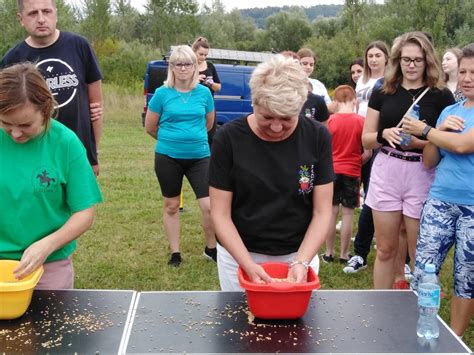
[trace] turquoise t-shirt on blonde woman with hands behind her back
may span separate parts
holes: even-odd
[[[176,159],[201,159],[210,155],[206,114],[214,110],[207,87],[197,85],[187,93],[161,86],[148,109],[160,115],[155,151]]]

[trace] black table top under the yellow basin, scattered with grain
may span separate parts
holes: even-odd
[[[135,291],[34,291],[26,313],[0,320],[0,353],[122,352]]]

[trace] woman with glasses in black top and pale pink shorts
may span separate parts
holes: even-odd
[[[372,208],[377,236],[376,289],[393,286],[402,222],[414,260],[421,208],[433,181],[433,171],[422,162],[426,137],[411,136],[408,144],[401,145],[399,122],[418,100],[420,119],[435,125],[441,111],[454,103],[442,83],[433,45],[423,33],[409,32],[394,43],[384,83],[369,100],[362,143],[366,149],[380,147],[365,201]]]

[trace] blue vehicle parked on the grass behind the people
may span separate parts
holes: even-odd
[[[222,89],[215,93],[214,101],[219,125],[252,112],[249,80],[256,63],[265,61],[271,53],[210,49],[208,60],[212,60],[221,80]],[[217,63],[221,62],[221,63]],[[223,64],[231,62],[233,64]],[[163,85],[168,71],[168,57],[147,64],[144,78],[145,106],[142,122],[145,121],[148,102],[155,90]]]

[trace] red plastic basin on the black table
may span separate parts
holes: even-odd
[[[272,278],[284,279],[288,276],[287,263],[260,264]],[[319,289],[318,275],[308,268],[305,283],[272,282],[257,284],[250,281],[247,273],[239,267],[240,286],[247,294],[247,303],[255,317],[263,319],[295,319],[306,313],[311,292]]]

